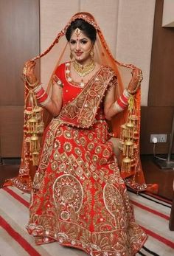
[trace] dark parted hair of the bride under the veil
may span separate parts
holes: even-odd
[[[71,25],[66,30],[66,39],[70,41],[70,38],[72,36],[72,33],[74,30],[77,29],[77,27],[84,32],[84,34],[91,39],[91,41],[94,43],[96,41],[96,29],[89,24],[88,22],[84,21],[82,18],[77,18],[75,21],[72,21]]]

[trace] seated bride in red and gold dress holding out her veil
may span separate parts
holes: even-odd
[[[127,109],[141,74],[128,66],[132,79],[121,91],[125,81],[119,64],[90,14],[74,15],[56,44],[64,35],[72,60],[62,63],[66,47],[52,73],[49,94],[35,75],[35,61],[24,69],[32,97],[55,117],[44,131],[27,230],[37,244],[58,241],[95,256],[135,255],[147,237],[134,221],[106,120]],[[27,106],[29,111],[31,104]]]

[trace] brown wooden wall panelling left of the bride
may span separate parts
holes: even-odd
[[[39,52],[39,1],[0,1],[0,158],[20,157],[24,62]]]

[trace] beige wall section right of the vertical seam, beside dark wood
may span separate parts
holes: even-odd
[[[119,0],[116,58],[142,69],[142,105],[147,105],[155,0]]]

